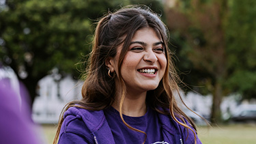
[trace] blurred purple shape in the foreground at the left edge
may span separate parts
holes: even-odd
[[[10,68],[0,68],[0,143],[41,143],[31,121],[27,93]],[[20,89],[21,88],[21,89]],[[20,95],[20,92],[23,93]],[[27,97],[27,96],[25,96]]]

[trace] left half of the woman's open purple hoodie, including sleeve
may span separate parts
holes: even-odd
[[[72,141],[77,140],[76,143],[80,141],[94,143],[97,137],[97,141],[114,143],[103,110],[89,111],[74,106],[64,113],[63,119],[59,136],[62,141],[70,138]]]

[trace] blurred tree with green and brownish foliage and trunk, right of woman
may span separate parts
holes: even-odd
[[[169,0],[167,25],[173,33],[173,50],[188,85],[199,93],[212,93],[211,120],[221,121],[223,96],[232,92],[255,96],[254,1]],[[238,6],[239,5],[239,6]],[[254,70],[253,70],[254,68]],[[247,74],[250,78],[242,78]]]

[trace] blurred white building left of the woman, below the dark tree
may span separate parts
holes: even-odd
[[[57,72],[38,82],[38,95],[33,102],[32,119],[39,124],[57,124],[63,107],[81,96],[81,81],[71,75],[61,78]]]

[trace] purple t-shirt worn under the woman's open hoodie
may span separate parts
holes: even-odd
[[[123,123],[119,112],[113,107],[104,110],[104,114],[111,128],[115,143],[143,143],[145,134],[130,130]],[[156,111],[147,109],[147,113],[142,117],[129,117],[126,115],[123,115],[123,117],[127,124],[147,134],[146,144],[162,143],[162,127]]]

